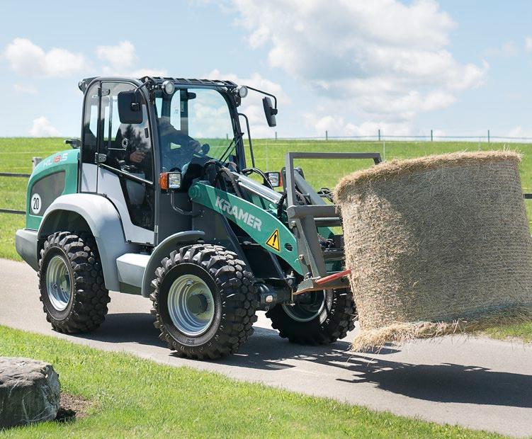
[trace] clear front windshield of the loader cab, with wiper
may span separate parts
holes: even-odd
[[[214,89],[176,89],[155,96],[163,171],[191,161],[236,161],[234,130],[224,96]]]

